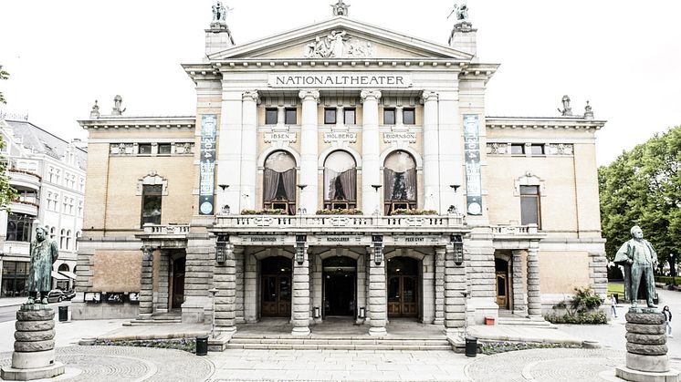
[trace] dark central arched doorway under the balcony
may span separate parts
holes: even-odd
[[[322,263],[324,280],[324,313],[356,316],[357,261],[351,257],[333,256]]]

